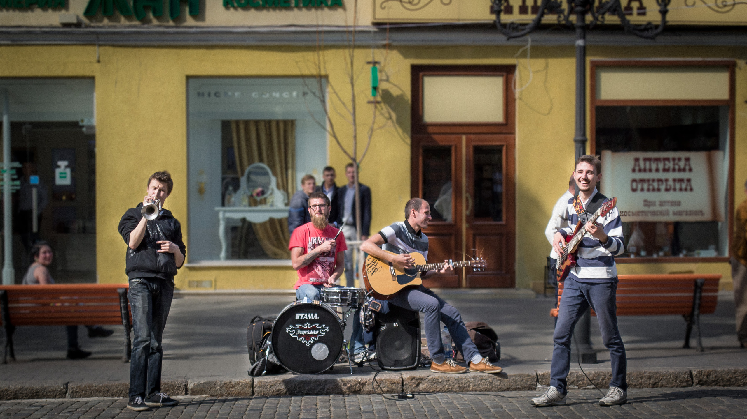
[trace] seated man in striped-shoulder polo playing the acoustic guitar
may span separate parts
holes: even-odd
[[[379,234],[374,234],[361,245],[361,250],[380,259],[397,265],[400,268],[412,268],[415,260],[408,253],[421,253],[428,259],[428,236],[423,234],[422,229],[428,227],[430,221],[430,205],[421,198],[412,198],[405,206],[405,221],[399,221],[384,227]],[[382,251],[379,246],[386,245],[386,250],[398,254]],[[453,271],[453,267],[445,261],[444,268],[440,271],[430,271],[422,274],[421,278],[431,277],[434,274],[443,274]],[[467,368],[456,365],[451,359],[444,356],[444,347],[441,344],[441,321],[444,322],[456,349],[464,354],[468,361],[469,371],[480,373],[500,373],[502,368],[492,365],[487,358],[483,358],[475,347],[459,312],[441,297],[434,294],[430,289],[419,286],[416,289],[403,289],[398,292],[388,303],[400,306],[403,309],[414,312],[422,312],[425,315],[425,336],[428,341],[428,350],[433,363],[430,371],[444,374],[462,374]]]

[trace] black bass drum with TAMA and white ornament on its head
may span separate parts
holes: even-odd
[[[329,370],[340,357],[342,341],[340,318],[324,303],[297,301],[273,325],[273,352],[280,365],[296,374]]]

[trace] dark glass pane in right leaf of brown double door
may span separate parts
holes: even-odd
[[[503,145],[477,145],[473,151],[474,218],[503,221]]]

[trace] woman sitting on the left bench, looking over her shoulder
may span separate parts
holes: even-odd
[[[52,246],[47,242],[39,241],[31,246],[31,257],[34,263],[28,266],[28,271],[23,276],[22,285],[51,285],[55,283],[52,274],[49,274],[49,265],[52,264]],[[105,338],[114,333],[114,330],[105,329],[101,326],[87,325],[89,338]],[[78,325],[66,326],[67,334],[67,359],[84,359],[91,355],[87,350],[82,350],[78,344]]]

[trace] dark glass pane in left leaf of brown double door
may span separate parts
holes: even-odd
[[[433,221],[452,221],[451,147],[423,147],[423,199],[430,204]]]

